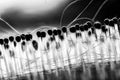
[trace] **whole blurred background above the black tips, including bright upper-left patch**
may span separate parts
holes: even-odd
[[[60,27],[60,17],[64,8],[75,0],[0,0],[0,16],[20,32],[32,31],[40,26]],[[69,24],[91,0],[78,0],[65,11],[62,26]],[[80,17],[92,18],[104,0],[93,3]],[[95,20],[120,17],[120,0],[108,0]],[[82,22],[79,21],[81,24]],[[0,21],[0,32],[12,31]]]

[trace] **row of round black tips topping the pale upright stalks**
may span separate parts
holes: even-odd
[[[70,33],[75,33],[76,37],[81,36],[81,33],[84,31],[88,31],[89,29],[91,29],[91,31],[88,31],[88,35],[90,36],[91,34],[96,34],[95,29],[101,29],[102,32],[106,33],[108,30],[106,28],[105,25],[114,27],[115,24],[118,24],[118,31],[120,31],[120,27],[119,27],[119,22],[120,22],[120,18],[118,19],[117,17],[114,17],[112,19],[104,19],[104,24],[102,25],[101,22],[99,21],[95,21],[94,23],[92,23],[91,21],[87,21],[85,24],[75,24],[72,27],[69,27],[69,29],[67,27],[62,27],[59,29],[48,29],[47,31],[37,31],[36,32],[36,36],[38,38],[45,38],[46,35],[48,34],[50,36],[50,40],[54,41],[55,40],[55,36],[58,36],[60,38],[60,40],[64,40],[64,35],[68,32]],[[77,33],[79,31],[79,33]],[[13,42],[14,46],[17,45],[17,42],[21,42],[21,41],[30,41],[32,40],[33,35],[32,34],[21,34],[18,36],[10,36],[9,38],[4,38],[4,39],[0,39],[0,45],[4,45],[5,48],[9,48],[8,43],[9,42]]]

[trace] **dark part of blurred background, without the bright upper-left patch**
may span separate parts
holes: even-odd
[[[56,26],[60,27],[60,16],[70,2],[69,0],[64,5],[61,5],[57,9],[46,13],[45,15],[24,15],[20,10],[8,10],[2,14],[2,18],[5,19],[9,24],[14,26],[17,30],[35,29],[39,26]],[[77,3],[70,6],[63,16],[62,26],[69,24],[89,3],[90,0],[80,0]],[[87,10],[81,15],[81,17],[92,18],[97,11],[98,7],[104,0],[94,0],[93,3],[87,8]],[[105,18],[120,17],[120,0],[108,0],[103,6],[95,20],[103,22]],[[81,24],[82,22],[79,21]],[[3,22],[0,22],[1,32],[11,30]],[[5,29],[5,30],[2,30]]]

